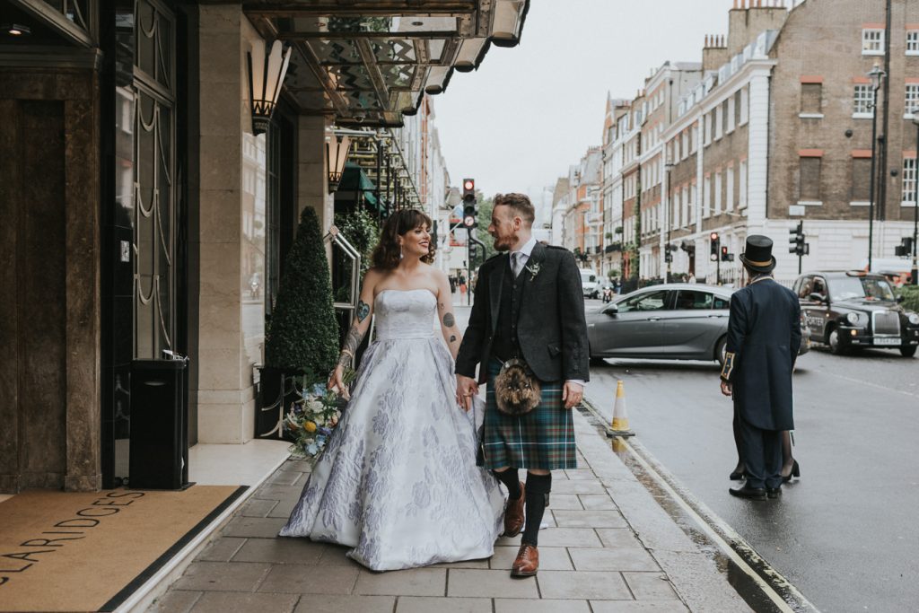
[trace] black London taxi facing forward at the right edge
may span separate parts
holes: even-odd
[[[919,314],[905,311],[883,275],[822,271],[801,275],[792,288],[811,341],[834,354],[857,347],[899,349],[912,358],[919,346]]]

